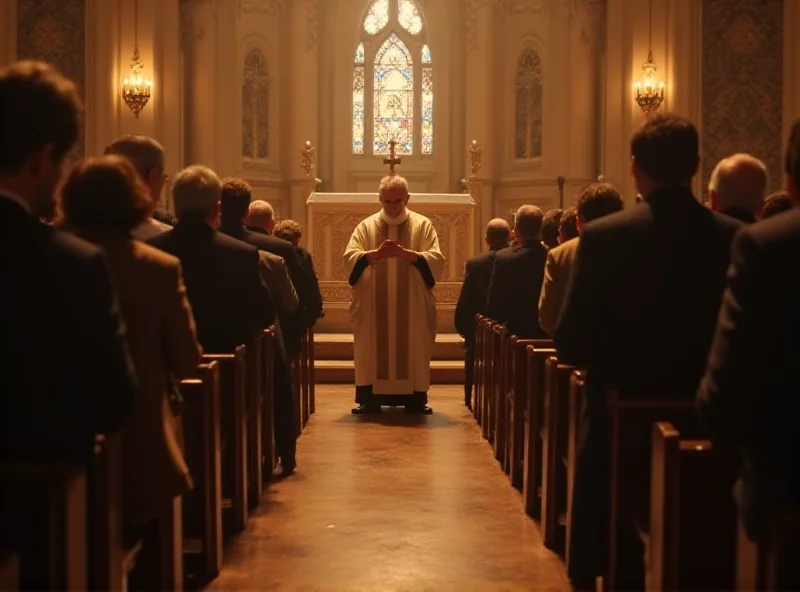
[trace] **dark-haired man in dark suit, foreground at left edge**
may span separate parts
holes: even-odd
[[[0,456],[87,460],[136,378],[103,252],[43,224],[82,105],[41,62],[0,71]]]

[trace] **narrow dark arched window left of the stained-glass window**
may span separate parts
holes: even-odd
[[[269,76],[267,61],[258,49],[251,49],[244,59],[242,156],[254,160],[269,156]]]

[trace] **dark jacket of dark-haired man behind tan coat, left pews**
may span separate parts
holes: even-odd
[[[290,358],[296,356],[300,350],[300,339],[303,332],[314,325],[318,314],[315,312],[314,281],[303,268],[295,246],[277,236],[248,230],[241,224],[222,225],[219,230],[257,249],[283,257],[286,269],[289,270],[289,277],[297,292],[297,298],[300,300],[297,311],[291,315],[281,315],[281,327],[287,354]]]

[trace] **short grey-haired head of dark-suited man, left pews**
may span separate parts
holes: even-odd
[[[202,220],[217,226],[222,183],[208,167],[193,164],[175,175],[172,201],[179,221]]]

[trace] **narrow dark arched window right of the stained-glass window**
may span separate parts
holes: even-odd
[[[532,49],[526,49],[517,62],[515,100],[514,156],[538,158],[542,155],[542,63]]]

